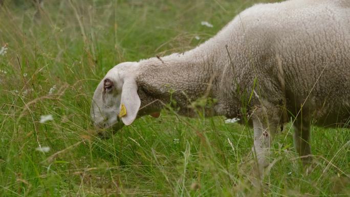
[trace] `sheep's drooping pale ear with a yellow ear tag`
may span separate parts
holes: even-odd
[[[120,102],[119,116],[125,125],[133,123],[139,111],[141,100],[137,94],[137,84],[134,79],[124,81]]]

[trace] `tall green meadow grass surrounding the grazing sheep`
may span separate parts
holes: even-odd
[[[0,8],[0,196],[349,196],[343,128],[313,127],[306,173],[287,125],[263,192],[250,183],[252,129],[224,117],[164,111],[109,140],[90,135],[92,94],[114,65],[191,49],[261,1],[44,2],[39,15],[30,1]]]

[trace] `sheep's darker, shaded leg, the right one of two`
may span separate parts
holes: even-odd
[[[295,149],[301,157],[302,163],[308,164],[311,162],[311,147],[309,143],[310,139],[310,122],[298,118],[294,123],[294,145]]]

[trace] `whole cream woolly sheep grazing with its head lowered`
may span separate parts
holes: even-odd
[[[195,116],[191,103],[206,97],[216,100],[207,116],[248,116],[260,173],[292,119],[296,151],[309,163],[311,123],[349,127],[350,1],[257,4],[192,50],[120,63],[98,84],[91,116],[116,131],[159,113],[170,96],[180,115]]]

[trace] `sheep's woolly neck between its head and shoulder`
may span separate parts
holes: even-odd
[[[170,104],[187,116],[195,114],[195,106],[204,106],[214,115],[210,107],[216,99],[212,92],[217,89],[217,73],[210,66],[213,62],[211,56],[199,57],[191,51],[141,61],[137,77],[141,106],[153,102],[150,108],[158,110]]]

